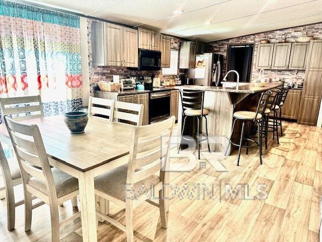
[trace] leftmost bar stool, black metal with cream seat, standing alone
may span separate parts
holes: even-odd
[[[181,132],[181,139],[180,145],[178,148],[178,153],[180,152],[180,147],[182,140],[188,141],[196,141],[195,138],[187,138],[184,137],[184,131],[186,126],[186,120],[188,117],[197,118],[197,134],[193,134],[192,136],[197,136],[197,149],[198,149],[198,159],[200,160],[200,142],[207,140],[208,151],[210,153],[210,146],[209,146],[209,139],[208,139],[208,128],[207,128],[207,115],[209,111],[203,108],[203,101],[204,101],[204,91],[192,91],[192,90],[180,90],[180,97],[182,103],[182,117],[184,119],[182,132]],[[206,119],[206,134],[200,134],[200,121],[202,118]],[[200,136],[204,136],[205,138],[200,139]]]

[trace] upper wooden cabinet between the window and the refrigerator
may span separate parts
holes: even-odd
[[[192,41],[184,41],[180,46],[179,68],[189,69],[195,67],[196,59],[196,43]]]

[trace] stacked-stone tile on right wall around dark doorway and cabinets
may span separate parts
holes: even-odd
[[[307,30],[307,35],[313,37],[313,39],[322,39],[322,23],[311,24],[303,26]],[[256,56],[257,56],[257,47],[261,39],[266,39],[266,36],[270,43],[281,42],[282,35],[286,35],[286,42],[296,42],[296,39],[301,36],[301,31],[303,27],[294,27],[288,29],[281,29],[275,31],[268,31],[259,34],[252,34],[242,37],[236,37],[231,39],[225,39],[220,41],[211,42],[210,46],[213,52],[221,53],[224,56],[223,70],[226,70],[226,57],[227,57],[227,47],[229,44],[246,44],[246,43],[255,43],[254,45],[254,55],[253,55],[253,68],[252,68],[252,81],[258,78],[259,71],[255,69],[256,65]],[[225,71],[224,71],[225,73]],[[224,75],[223,73],[223,75]],[[295,78],[304,78],[304,70],[264,70],[265,78],[272,78],[272,80],[278,81],[279,78],[288,79]]]

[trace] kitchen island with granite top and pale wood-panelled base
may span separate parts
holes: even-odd
[[[254,84],[239,85],[235,87],[210,87],[210,86],[176,86],[176,89],[205,91],[204,108],[209,111],[208,119],[208,135],[211,151],[225,152],[228,139],[231,133],[233,113],[238,110],[247,110],[247,108],[257,104],[259,93],[277,88],[282,85],[282,82],[265,83],[264,87],[256,87]],[[254,98],[255,97],[255,98]],[[193,126],[192,124],[190,125]],[[178,139],[180,140],[182,129],[182,105],[179,100],[178,114]],[[201,127],[205,131],[205,120]],[[236,137],[240,132],[235,129],[233,137]],[[202,144],[202,147],[206,147]],[[227,152],[229,155],[232,152],[232,147]]]

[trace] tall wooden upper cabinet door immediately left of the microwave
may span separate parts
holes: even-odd
[[[138,67],[137,30],[123,27],[123,66]]]

